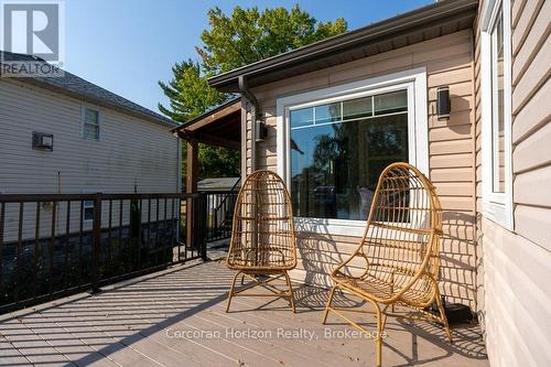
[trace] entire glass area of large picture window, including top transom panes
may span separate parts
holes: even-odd
[[[290,110],[299,217],[365,220],[382,170],[409,161],[408,90]]]

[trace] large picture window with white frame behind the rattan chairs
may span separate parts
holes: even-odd
[[[277,117],[298,230],[361,236],[388,164],[429,173],[424,67],[282,96]]]

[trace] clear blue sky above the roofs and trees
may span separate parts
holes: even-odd
[[[171,66],[197,58],[207,10],[299,3],[318,20],[342,17],[350,30],[412,10],[433,0],[65,0],[65,68],[85,79],[158,111],[166,98],[158,80]]]

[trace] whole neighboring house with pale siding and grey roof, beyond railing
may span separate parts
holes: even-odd
[[[170,133],[175,126],[67,72],[64,77],[1,77],[0,193],[180,193],[180,142]],[[78,214],[73,211],[75,220]],[[91,216],[93,202],[86,202],[85,229]],[[32,220],[30,208],[23,238],[34,236]],[[9,241],[17,208],[7,208],[6,223]]]

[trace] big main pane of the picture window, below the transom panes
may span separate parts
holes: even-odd
[[[291,131],[291,196],[296,216],[366,219],[377,181],[408,161],[408,115]]]

